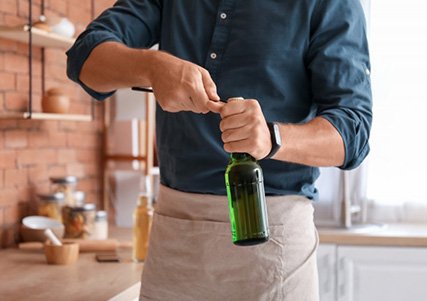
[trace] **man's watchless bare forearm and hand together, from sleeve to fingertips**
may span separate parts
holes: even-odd
[[[95,47],[79,79],[101,93],[151,86],[160,106],[168,112],[207,113],[209,99],[219,100],[206,69],[163,51],[129,48],[118,42]]]

